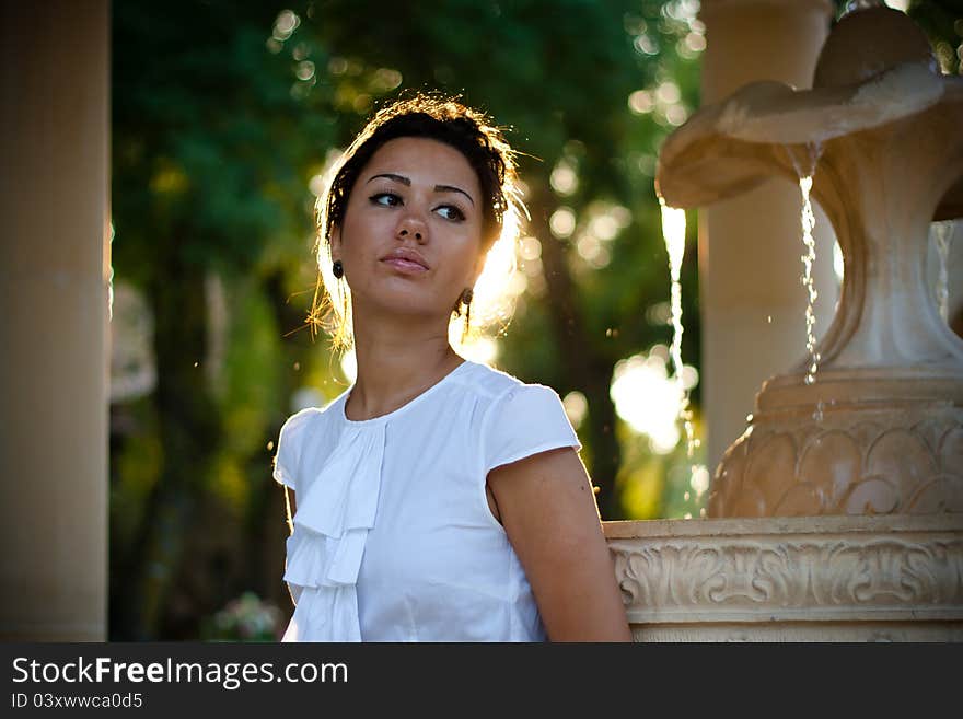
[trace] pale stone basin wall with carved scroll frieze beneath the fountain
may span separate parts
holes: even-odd
[[[637,640],[963,640],[963,517],[606,522]]]

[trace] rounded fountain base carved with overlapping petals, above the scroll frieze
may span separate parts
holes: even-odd
[[[884,391],[892,379],[837,372],[811,387],[791,379],[761,393],[773,408],[727,451],[709,517],[963,512],[961,383],[905,379],[897,389],[930,399],[901,403],[897,390]]]

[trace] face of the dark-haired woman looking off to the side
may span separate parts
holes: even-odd
[[[385,142],[358,175],[332,258],[356,316],[376,311],[443,317],[481,270],[478,177],[454,148],[427,138]]]

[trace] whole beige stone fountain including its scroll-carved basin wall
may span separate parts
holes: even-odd
[[[606,529],[636,637],[963,640],[963,341],[925,271],[930,222],[963,216],[963,78],[904,13],[852,11],[811,90],[704,107],[657,187],[695,208],[774,175],[810,177],[836,231],[836,315],[763,384],[709,519]]]

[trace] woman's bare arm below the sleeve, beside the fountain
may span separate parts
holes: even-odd
[[[488,473],[501,523],[552,641],[631,641],[585,467],[575,450]]]

